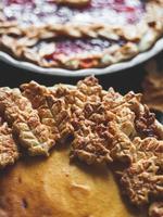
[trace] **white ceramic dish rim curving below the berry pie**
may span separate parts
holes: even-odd
[[[27,69],[37,74],[77,77],[77,76],[104,75],[104,74],[117,73],[120,71],[127,69],[140,63],[146,62],[147,60],[151,59],[162,50],[163,50],[163,38],[159,39],[150,50],[136,55],[129,61],[116,63],[104,68],[88,68],[78,71],[68,71],[63,68],[43,68],[29,62],[17,61],[8,53],[4,53],[2,51],[0,51],[0,60],[15,67]]]

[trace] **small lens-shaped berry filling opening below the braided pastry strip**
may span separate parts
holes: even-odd
[[[123,44],[125,41],[118,41],[118,44]],[[60,61],[63,58],[68,59],[71,58],[76,59],[77,56],[82,56],[84,60],[85,65],[90,64],[90,59],[85,61],[85,56],[87,55],[98,55],[99,52],[105,51],[110,46],[114,44],[115,41],[105,40],[105,39],[60,39],[55,42],[55,50],[45,55],[43,58],[51,62],[51,61]],[[117,42],[116,42],[117,43]],[[38,49],[41,47],[41,43],[38,44]]]

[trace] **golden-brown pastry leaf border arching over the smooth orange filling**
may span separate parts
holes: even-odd
[[[0,113],[32,154],[71,142],[73,159],[115,166],[133,204],[162,199],[163,126],[141,103],[141,94],[104,91],[95,77],[72,88],[32,81],[21,90],[0,88]]]

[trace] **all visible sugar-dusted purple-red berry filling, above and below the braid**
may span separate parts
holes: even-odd
[[[16,20],[20,25],[42,24],[135,24],[145,11],[141,0],[91,0],[84,8],[58,5],[54,0],[2,0],[5,5],[3,13],[7,20]],[[45,55],[49,62],[64,59],[74,59],[82,55],[82,67],[91,67],[92,60],[85,56],[95,56],[110,48],[113,43],[106,39],[55,39],[55,50]],[[41,47],[41,42],[37,49]]]

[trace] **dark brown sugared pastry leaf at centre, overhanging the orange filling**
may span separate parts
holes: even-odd
[[[78,157],[88,164],[111,161],[106,149],[110,133],[106,132],[106,114],[100,103],[88,103],[83,115],[75,122],[74,141],[72,143],[72,157]]]

